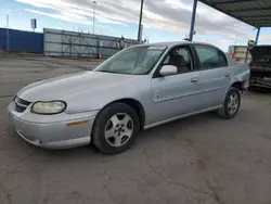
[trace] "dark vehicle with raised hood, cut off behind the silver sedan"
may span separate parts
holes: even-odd
[[[271,88],[271,46],[254,47],[249,52],[250,86]]]

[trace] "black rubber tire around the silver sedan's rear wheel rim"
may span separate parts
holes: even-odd
[[[234,111],[234,113],[230,113],[229,109],[228,109],[228,103],[230,100],[230,97],[232,94],[236,94],[237,99],[238,99],[238,105],[236,107],[236,110]],[[224,102],[223,102],[223,106],[218,111],[218,115],[224,119],[231,119],[233,117],[235,117],[238,113],[240,110],[240,105],[241,105],[241,93],[240,90],[235,87],[231,87],[225,95]]]

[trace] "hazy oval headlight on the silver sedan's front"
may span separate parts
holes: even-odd
[[[43,115],[59,114],[65,111],[64,101],[38,101],[33,104],[31,112]]]

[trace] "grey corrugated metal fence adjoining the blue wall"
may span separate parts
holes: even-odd
[[[43,29],[44,55],[111,56],[122,48],[138,44],[137,40],[57,29]]]

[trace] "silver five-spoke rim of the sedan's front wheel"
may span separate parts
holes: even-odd
[[[122,146],[131,138],[133,133],[132,118],[126,113],[113,115],[106,123],[104,136],[108,144],[112,146]]]

